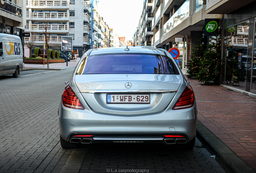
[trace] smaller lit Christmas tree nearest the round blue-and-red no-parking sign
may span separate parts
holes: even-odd
[[[190,56],[190,60],[188,60],[187,66],[187,77],[188,78],[195,78],[197,73],[200,71],[200,60],[202,59],[204,55],[204,50],[202,46],[203,39],[200,38],[197,40],[199,44],[197,46],[194,46],[194,49],[192,49],[192,54]]]

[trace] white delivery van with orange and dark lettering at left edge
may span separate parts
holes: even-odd
[[[0,76],[17,78],[23,68],[23,52],[19,36],[0,33]]]

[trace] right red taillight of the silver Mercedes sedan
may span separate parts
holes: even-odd
[[[187,85],[178,101],[173,106],[172,110],[186,109],[194,106],[195,99],[192,88]]]

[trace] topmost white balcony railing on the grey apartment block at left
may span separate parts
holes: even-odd
[[[27,6],[69,6],[69,0],[27,0]]]

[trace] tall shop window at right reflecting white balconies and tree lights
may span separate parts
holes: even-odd
[[[227,28],[225,83],[245,90],[249,22]]]

